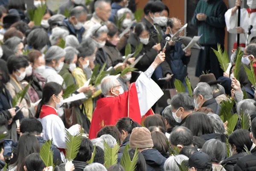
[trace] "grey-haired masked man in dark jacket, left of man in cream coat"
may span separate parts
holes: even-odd
[[[59,23],[60,27],[67,29],[70,34],[76,36],[81,43],[84,34],[84,23],[87,19],[87,11],[82,6],[77,6],[70,11],[70,17]]]

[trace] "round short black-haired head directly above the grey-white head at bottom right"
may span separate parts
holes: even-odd
[[[179,144],[183,146],[190,146],[193,143],[193,134],[188,128],[184,126],[178,126],[172,130],[169,141],[174,146]]]

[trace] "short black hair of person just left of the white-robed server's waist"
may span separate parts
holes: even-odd
[[[25,118],[20,123],[20,132],[39,135],[43,132],[43,125],[35,117]]]

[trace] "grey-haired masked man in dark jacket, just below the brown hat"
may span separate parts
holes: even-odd
[[[206,107],[212,109],[213,113],[219,114],[221,107],[213,98],[212,88],[209,84],[198,83],[194,90],[194,98],[196,109]]]

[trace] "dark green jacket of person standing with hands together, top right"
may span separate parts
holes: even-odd
[[[225,17],[227,6],[223,0],[200,0],[195,9],[195,15],[191,23],[198,26],[198,35],[201,45],[224,45],[225,39]],[[207,15],[205,21],[199,21],[196,15],[203,13]]]

